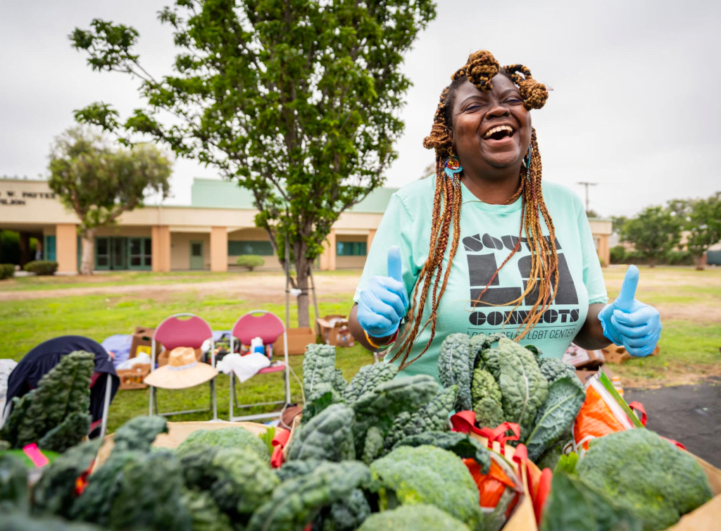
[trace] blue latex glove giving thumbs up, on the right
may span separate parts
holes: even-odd
[[[632,356],[648,356],[661,337],[658,310],[635,299],[638,268],[629,266],[621,293],[598,314],[603,335],[616,345],[623,345]]]

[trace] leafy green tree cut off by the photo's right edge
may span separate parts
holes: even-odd
[[[721,192],[707,199],[690,201],[684,223],[686,249],[694,257],[696,269],[703,269],[704,253],[721,241]]]

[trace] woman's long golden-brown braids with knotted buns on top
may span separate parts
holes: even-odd
[[[402,356],[400,370],[408,367],[413,361],[423,356],[433,342],[435,323],[438,318],[436,314],[438,303],[443,297],[443,291],[446,291],[448,275],[451,272],[461,235],[461,190],[454,186],[452,180],[446,176],[444,171],[446,159],[454,153],[450,126],[453,120],[452,110],[456,89],[465,79],[468,79],[477,89],[490,92],[493,88],[492,78],[497,74],[508,76],[516,84],[519,92],[521,92],[523,105],[528,110],[540,109],[548,99],[548,91],[545,85],[536,82],[531,76],[531,71],[526,66],[514,64],[504,66],[501,69],[498,62],[488,51],[472,53],[466,64],[451,76],[451,84],[441,92],[441,101],[438,103],[438,109],[433,117],[433,128],[430,130],[430,135],[423,140],[423,146],[426,149],[435,149],[435,196],[433,198],[433,218],[430,222],[430,250],[413,290],[412,304],[407,315],[407,322],[396,341],[396,346],[394,346],[395,352],[391,361],[395,361]],[[521,248],[521,236],[525,229],[527,245],[531,250],[531,271],[526,289],[523,290],[518,299],[503,305],[515,304],[518,307],[523,302],[524,297],[534,292],[534,290],[538,296],[531,311],[528,312],[526,320],[522,323],[522,325],[525,324],[525,328],[516,337],[516,341],[523,338],[539,322],[558,289],[556,236],[541,191],[541,154],[536,141],[535,129],[531,130],[531,144],[526,167],[521,167],[521,186],[516,194],[508,200],[508,203],[516,201],[519,196],[522,196],[523,202],[521,207],[521,229],[518,232],[516,246],[508,255],[508,258],[497,268],[478,299],[473,301],[475,304],[481,304],[480,301],[483,295],[495,280],[498,271]],[[541,216],[549,229],[549,236],[547,237],[544,237],[541,232]],[[448,237],[451,231],[453,234],[451,252],[448,258],[448,266],[443,271],[443,256],[448,247]],[[428,294],[431,297],[430,317],[423,323],[423,310]],[[428,343],[418,356],[407,361],[417,336],[429,324],[430,338]]]

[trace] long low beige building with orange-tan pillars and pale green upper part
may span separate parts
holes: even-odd
[[[379,188],[344,212],[333,225],[319,268],[362,268],[390,196]],[[123,214],[118,224],[98,229],[95,269],[228,271],[239,255],[260,255],[266,269],[280,268],[264,230],[255,227],[250,194],[234,183],[195,179],[190,206],[145,206]],[[609,263],[611,221],[590,220],[598,255]],[[77,217],[44,180],[0,179],[0,229],[17,231],[22,242],[43,243],[43,258],[58,272],[79,266]]]

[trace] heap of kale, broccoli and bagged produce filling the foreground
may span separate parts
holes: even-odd
[[[438,373],[346,382],[309,345],[290,434],[140,416],[88,441],[92,361],[66,356],[0,429],[0,530],[721,529],[721,471],[602,372],[452,334]]]

